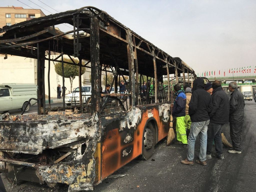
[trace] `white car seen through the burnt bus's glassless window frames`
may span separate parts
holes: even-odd
[[[80,89],[79,89],[79,87],[77,87],[72,93],[69,93],[69,94],[65,95],[65,103],[67,104],[67,106],[70,106],[71,103],[72,104],[80,103],[79,92],[80,92]],[[91,85],[82,87],[83,103],[86,103],[86,101],[91,98],[91,94],[92,94]]]

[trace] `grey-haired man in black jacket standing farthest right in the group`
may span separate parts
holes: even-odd
[[[233,150],[228,150],[229,153],[242,153],[242,124],[244,122],[244,96],[238,91],[236,82],[231,82],[228,85],[230,95],[229,109],[229,126],[230,137],[232,140]]]

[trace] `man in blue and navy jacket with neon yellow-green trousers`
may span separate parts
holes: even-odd
[[[176,95],[176,99],[173,104],[172,115],[176,118],[176,133],[178,143],[183,143],[183,147],[187,148],[187,134],[186,134],[186,126],[185,126],[185,116],[186,116],[186,95],[184,91],[181,89],[179,84],[176,84],[174,87],[174,92]]]

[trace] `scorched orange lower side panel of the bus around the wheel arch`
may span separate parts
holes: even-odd
[[[158,104],[143,106],[131,111],[134,114],[140,113],[139,116],[127,113],[102,118],[102,180],[142,154],[143,130],[149,118],[157,123],[158,141],[166,137],[169,131],[169,112],[163,113],[162,108],[159,108],[159,117],[158,108]],[[123,128],[122,122],[126,120],[126,128]],[[130,120],[136,122],[136,126]]]

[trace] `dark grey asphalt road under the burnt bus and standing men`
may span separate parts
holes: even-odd
[[[180,160],[186,158],[187,149],[180,144],[166,147],[166,140],[163,140],[157,144],[151,159],[147,161],[135,159],[114,173],[126,176],[105,179],[95,186],[94,191],[256,191],[256,103],[254,101],[245,103],[241,154],[230,154],[227,152],[228,148],[224,147],[224,160],[213,157],[207,160],[205,167],[196,163],[194,166],[188,166],[180,163]],[[225,125],[223,132],[231,143],[228,124]],[[198,159],[199,146],[197,139],[195,159]],[[214,148],[212,153],[215,153]],[[51,189],[47,185],[29,182],[12,186],[6,179],[4,184],[7,192],[67,192],[67,186]]]

